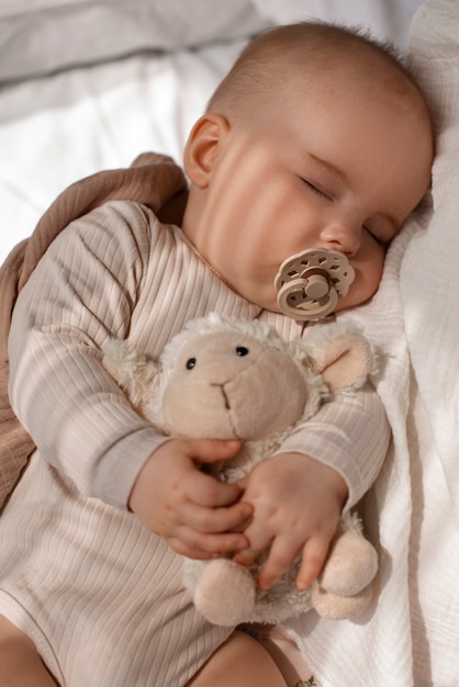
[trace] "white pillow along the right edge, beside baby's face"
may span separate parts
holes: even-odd
[[[433,214],[402,264],[401,294],[414,373],[459,518],[459,3],[429,0],[413,22],[410,54],[437,132]]]

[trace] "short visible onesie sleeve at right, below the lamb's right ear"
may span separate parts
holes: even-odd
[[[367,384],[356,394],[323,405],[282,443],[336,470],[348,487],[345,510],[369,489],[387,455],[391,432],[382,402]]]

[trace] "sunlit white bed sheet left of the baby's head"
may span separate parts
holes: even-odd
[[[137,55],[0,91],[0,262],[69,183],[183,145],[243,41]]]

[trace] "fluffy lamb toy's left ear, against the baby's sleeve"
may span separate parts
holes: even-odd
[[[127,341],[110,339],[102,348],[102,364],[126,394],[131,404],[142,409],[159,384],[160,367]]]

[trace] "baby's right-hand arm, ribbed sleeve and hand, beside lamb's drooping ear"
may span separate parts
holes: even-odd
[[[390,431],[382,404],[368,385],[326,404],[284,442],[281,453],[259,463],[245,481],[254,518],[245,530],[250,547],[236,555],[248,564],[267,547],[259,584],[269,587],[302,553],[299,587],[320,573],[343,508],[374,481]]]

